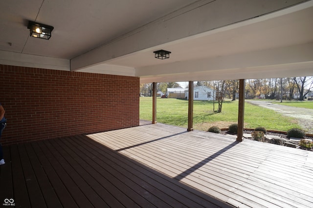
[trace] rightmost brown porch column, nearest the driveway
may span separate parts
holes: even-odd
[[[244,137],[244,114],[245,114],[245,85],[246,80],[239,80],[239,104],[238,104],[238,130],[237,141],[242,142]]]

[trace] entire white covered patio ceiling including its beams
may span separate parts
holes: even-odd
[[[29,37],[28,20],[52,37]],[[1,1],[0,64],[142,83],[312,76],[312,22],[313,0]]]

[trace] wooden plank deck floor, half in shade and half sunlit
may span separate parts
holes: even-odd
[[[0,206],[313,207],[313,152],[141,124],[4,147]]]

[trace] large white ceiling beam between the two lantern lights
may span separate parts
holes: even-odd
[[[70,60],[72,71],[263,16],[305,0],[200,0]]]

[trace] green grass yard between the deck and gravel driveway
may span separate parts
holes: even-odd
[[[215,110],[218,105],[215,103]],[[152,120],[152,97],[140,97],[140,119]],[[238,101],[224,101],[222,113],[213,111],[213,101],[194,101],[194,129],[207,131],[211,126],[227,128],[237,123]],[[156,120],[159,123],[187,128],[188,101],[157,98]],[[296,120],[272,110],[245,103],[245,128],[265,127],[267,130],[288,131],[300,128]]]

